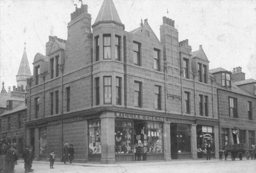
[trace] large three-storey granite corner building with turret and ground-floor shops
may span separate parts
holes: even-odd
[[[67,41],[49,36],[27,80],[26,142],[35,158],[75,162],[198,159],[199,148],[219,149],[217,87],[203,51],[178,41],[163,17],[160,40],[147,19],[125,31],[112,0],[94,24],[87,5],[71,13]],[[39,139],[39,140],[37,140]]]

